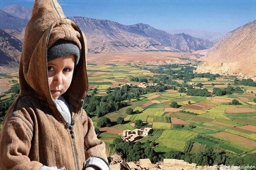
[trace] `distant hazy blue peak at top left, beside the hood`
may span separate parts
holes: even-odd
[[[18,17],[24,20],[29,20],[31,15],[31,8],[27,8],[25,6],[18,6],[18,5],[6,6],[2,8],[2,10],[8,14],[11,14],[14,17]]]

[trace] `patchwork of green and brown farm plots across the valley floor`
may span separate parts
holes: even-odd
[[[105,96],[114,88],[125,84],[138,85],[131,81],[132,77],[142,77],[152,82],[157,75],[149,71],[157,66],[148,65],[88,65],[89,91],[88,95]],[[183,66],[182,66],[183,67]],[[147,68],[147,69],[145,69]],[[179,70],[180,68],[175,68]],[[17,80],[17,75],[4,75],[8,79]],[[1,78],[4,78],[2,75]],[[187,82],[202,83],[209,91],[214,88],[241,87],[244,93],[232,93],[223,96],[189,96],[175,89],[142,94],[139,97],[126,100],[128,105],[104,115],[111,120],[111,127],[100,128],[99,138],[107,144],[122,135],[122,130],[134,130],[134,122],[142,120],[146,127],[153,127],[150,136],[138,141],[154,141],[156,152],[164,153],[170,150],[189,151],[197,153],[207,146],[225,151],[230,155],[242,156],[256,152],[256,87],[235,85],[234,77],[218,77],[214,80],[206,77],[196,77]],[[183,79],[177,79],[183,85]],[[165,83],[163,83],[165,84]],[[166,84],[165,84],[166,85]],[[1,95],[2,101],[12,94]],[[233,99],[241,105],[230,105]],[[177,102],[177,108],[172,108],[172,102]],[[126,111],[132,109],[132,114]],[[124,118],[124,124],[117,124],[119,117]],[[94,114],[92,120],[95,127],[99,118]],[[191,145],[190,149],[186,148]]]

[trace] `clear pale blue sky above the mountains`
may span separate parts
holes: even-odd
[[[0,0],[32,8],[33,0]],[[58,0],[67,17],[146,23],[162,30],[226,33],[256,19],[256,0]]]

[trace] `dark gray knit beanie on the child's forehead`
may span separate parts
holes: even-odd
[[[80,59],[79,47],[73,41],[58,40],[55,42],[47,51],[47,60],[56,59],[74,54],[75,55],[75,66],[78,64]]]

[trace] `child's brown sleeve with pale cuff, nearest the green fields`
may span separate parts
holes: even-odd
[[[105,143],[97,138],[94,130],[93,121],[87,116],[86,112],[83,110],[83,126],[85,131],[84,136],[84,153],[85,159],[87,159],[86,167],[91,165],[99,167],[108,167],[108,158],[106,155]],[[104,169],[104,170],[108,170]]]

